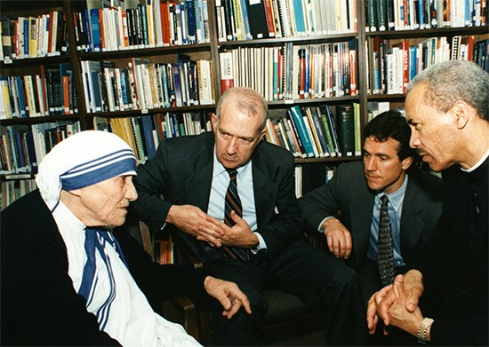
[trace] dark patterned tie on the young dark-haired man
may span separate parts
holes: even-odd
[[[379,262],[379,273],[384,286],[394,281],[396,272],[394,270],[394,249],[392,245],[392,230],[390,228],[387,195],[381,197],[381,214],[379,217],[379,241],[377,243],[377,261]]]

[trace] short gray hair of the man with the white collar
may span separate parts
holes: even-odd
[[[421,71],[409,83],[407,92],[417,85],[426,87],[424,101],[446,113],[462,100],[489,122],[489,74],[468,60],[449,60]]]

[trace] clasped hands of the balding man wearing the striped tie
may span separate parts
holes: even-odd
[[[246,221],[231,211],[236,225],[228,226],[219,219],[207,215],[202,209],[192,205],[173,205],[168,211],[167,222],[193,235],[198,241],[205,241],[211,247],[233,246],[255,248],[258,237]]]

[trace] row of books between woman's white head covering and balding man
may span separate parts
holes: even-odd
[[[110,131],[123,138],[144,163],[155,153],[164,138],[198,135],[211,130],[210,115],[206,112],[183,114],[147,114],[135,117],[94,117],[96,130]]]

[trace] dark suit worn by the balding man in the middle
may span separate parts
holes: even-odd
[[[212,184],[212,133],[164,140],[156,156],[141,165],[134,185],[139,199],[135,212],[149,225],[161,228],[168,210],[191,204],[207,211]],[[179,232],[214,276],[235,281],[250,299],[253,315],[241,312],[223,319],[215,307],[215,343],[259,343],[258,335],[267,302],[263,288],[281,288],[300,296],[328,315],[325,329],[331,344],[364,343],[365,314],[357,277],[332,256],[302,241],[301,210],[294,193],[293,155],[262,141],[253,156],[253,191],[258,229],[266,251],[248,263],[228,259]],[[160,197],[163,196],[163,199]]]

